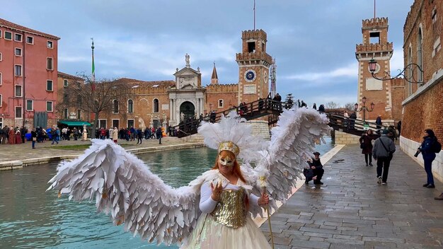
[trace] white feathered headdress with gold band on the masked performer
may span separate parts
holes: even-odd
[[[252,126],[235,111],[222,115],[220,122],[202,122],[198,133],[204,137],[205,144],[211,149],[231,151],[243,161],[254,161],[262,158],[260,151],[269,146],[261,137],[253,136]]]

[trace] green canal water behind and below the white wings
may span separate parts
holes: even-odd
[[[317,146],[321,154],[332,141]],[[168,185],[187,185],[212,168],[217,151],[207,148],[139,155]],[[95,202],[69,202],[45,192],[57,163],[0,172],[0,248],[177,248],[141,241],[97,214]]]

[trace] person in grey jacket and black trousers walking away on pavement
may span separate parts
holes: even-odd
[[[386,185],[388,180],[389,165],[392,155],[396,151],[396,145],[388,137],[389,131],[384,129],[381,137],[375,140],[372,156],[377,161],[377,183]],[[383,174],[382,174],[383,173]]]

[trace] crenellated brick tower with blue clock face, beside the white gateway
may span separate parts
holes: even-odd
[[[246,30],[241,33],[242,51],[236,54],[238,103],[250,103],[267,97],[272,57],[266,53],[266,36],[263,30]]]

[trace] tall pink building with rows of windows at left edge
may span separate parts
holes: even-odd
[[[57,124],[60,38],[0,18],[0,125]]]

